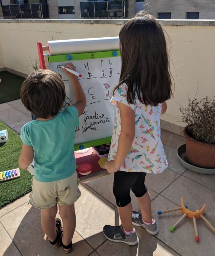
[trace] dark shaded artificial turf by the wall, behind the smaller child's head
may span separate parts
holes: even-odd
[[[7,71],[0,72],[0,79],[2,80],[0,83],[0,104],[20,99],[20,88],[25,79]]]

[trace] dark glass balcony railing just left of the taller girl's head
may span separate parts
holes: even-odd
[[[80,2],[81,18],[124,18],[126,1]]]

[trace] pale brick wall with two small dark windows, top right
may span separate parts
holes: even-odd
[[[215,19],[214,0],[145,0],[144,10],[155,17],[171,12],[171,19],[186,19],[186,12],[199,12],[199,19]]]

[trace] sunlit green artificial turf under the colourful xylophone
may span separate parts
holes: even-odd
[[[8,130],[8,141],[0,144],[0,171],[19,168],[18,157],[22,150],[20,136],[0,121],[0,131]],[[0,208],[31,191],[31,174],[20,169],[20,177],[0,182]]]

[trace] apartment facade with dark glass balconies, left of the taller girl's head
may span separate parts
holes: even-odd
[[[131,18],[144,0],[1,0],[3,18]]]

